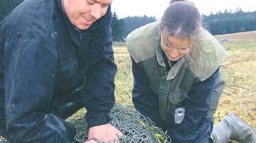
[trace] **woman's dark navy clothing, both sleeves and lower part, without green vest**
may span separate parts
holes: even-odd
[[[213,116],[207,118],[207,112],[219,69],[203,82],[195,82],[189,90],[188,98],[179,104],[186,110],[183,122],[176,124],[174,120],[170,120],[169,124],[165,124],[159,118],[159,97],[150,88],[150,81],[144,69],[139,65],[140,63],[135,63],[132,59],[134,75],[132,101],[135,108],[144,116],[151,118],[157,126],[167,130],[174,143],[208,142],[213,128]]]

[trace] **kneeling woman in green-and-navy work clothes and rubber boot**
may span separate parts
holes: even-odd
[[[202,28],[187,0],[171,0],[161,21],[130,33],[135,108],[167,130],[174,143],[256,141],[255,129],[234,114],[213,127],[224,88],[220,65],[226,50]]]

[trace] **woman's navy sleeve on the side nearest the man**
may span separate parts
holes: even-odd
[[[150,88],[145,71],[139,67],[138,63],[135,63],[133,59],[132,73],[134,76],[132,102],[136,110],[139,111],[143,116],[153,120],[156,126],[162,127],[158,118],[158,96]]]

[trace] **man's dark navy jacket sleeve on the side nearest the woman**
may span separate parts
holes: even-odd
[[[117,67],[114,63],[110,8],[103,31],[96,33],[90,44],[85,90],[83,97],[87,109],[88,127],[109,122],[108,113],[115,103],[114,77]]]

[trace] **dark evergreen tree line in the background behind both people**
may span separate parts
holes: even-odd
[[[25,0],[0,0],[0,21],[4,19],[18,4]],[[213,35],[230,34],[256,30],[256,11],[243,12],[241,8],[202,15],[204,27]],[[134,16],[119,19],[112,13],[112,36],[115,42],[124,42],[134,29],[156,21],[156,17]]]

